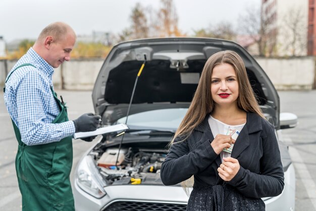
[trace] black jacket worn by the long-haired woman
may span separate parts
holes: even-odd
[[[175,185],[194,175],[194,186],[223,184],[217,169],[221,156],[210,143],[214,140],[208,124],[208,115],[188,137],[175,139],[161,169],[165,185]],[[179,142],[179,143],[177,143]],[[257,114],[247,113],[247,122],[234,144],[232,157],[240,169],[227,184],[247,197],[261,198],[281,194],[284,172],[275,129]]]

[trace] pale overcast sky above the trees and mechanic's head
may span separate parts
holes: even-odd
[[[179,29],[193,34],[222,21],[238,25],[246,8],[259,8],[261,0],[173,0]],[[160,0],[1,0],[0,36],[6,42],[36,39],[48,24],[62,21],[77,35],[92,31],[119,33],[130,25],[136,3],[144,8],[160,8]]]

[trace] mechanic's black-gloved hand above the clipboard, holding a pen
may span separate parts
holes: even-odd
[[[101,121],[101,116],[92,113],[81,115],[78,119],[73,120],[75,123],[76,133],[96,130]]]

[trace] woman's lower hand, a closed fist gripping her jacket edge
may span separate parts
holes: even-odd
[[[219,176],[226,182],[231,181],[240,169],[237,159],[233,157],[224,157],[223,163],[217,169]]]

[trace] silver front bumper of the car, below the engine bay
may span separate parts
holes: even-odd
[[[137,210],[150,210],[148,208],[143,208],[146,206],[155,206],[157,204],[167,204],[166,207],[168,207],[169,204],[169,210],[172,206],[178,207],[179,210],[181,210],[180,206],[186,204],[189,198],[184,192],[184,189],[180,186],[112,185],[105,187],[104,190],[106,190],[107,194],[102,198],[97,199],[84,192],[75,182],[73,193],[76,210],[108,211],[111,210],[111,204],[120,204],[122,206],[121,202],[126,202],[126,204],[129,204],[130,206],[136,206],[131,204],[142,206],[142,208]],[[295,171],[293,164],[291,164],[285,172],[285,186],[283,192],[276,197],[264,198],[264,201],[266,203],[267,211],[294,210]]]

